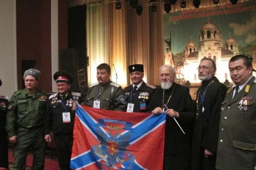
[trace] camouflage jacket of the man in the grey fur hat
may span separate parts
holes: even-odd
[[[17,128],[43,127],[44,114],[46,111],[47,94],[37,89],[31,96],[26,89],[16,91],[11,97],[7,113],[8,136],[17,135]]]

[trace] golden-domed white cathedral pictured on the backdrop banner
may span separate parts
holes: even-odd
[[[199,45],[196,46],[191,37],[190,42],[185,46],[184,52],[184,67],[181,70],[183,70],[186,81],[200,83],[196,68],[199,66],[201,59],[211,58],[217,66],[215,76],[222,83],[225,80],[231,82],[228,61],[232,56],[239,54],[238,43],[231,37],[230,33],[229,38],[223,42],[221,31],[209,19],[199,31]]]

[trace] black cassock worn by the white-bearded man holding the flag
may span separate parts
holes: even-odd
[[[189,94],[189,89],[177,83],[174,83],[168,90],[157,87],[148,108],[152,111],[157,107],[163,108],[163,104],[167,104],[169,109],[179,113],[179,118],[176,118],[176,120],[185,132],[184,135],[174,118],[167,115],[164,141],[164,170],[188,170],[192,125],[196,115],[195,104]]]

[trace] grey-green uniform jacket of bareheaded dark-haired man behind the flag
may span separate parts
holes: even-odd
[[[85,98],[85,106],[93,107],[94,101],[100,101],[100,108],[114,111],[125,111],[124,91],[120,85],[112,81],[105,86],[94,83],[89,87]]]

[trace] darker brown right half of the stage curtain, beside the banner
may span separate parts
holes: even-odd
[[[158,68],[164,59],[162,6],[143,7],[138,16],[133,9],[127,11],[128,63],[144,65],[144,81],[159,84]]]

